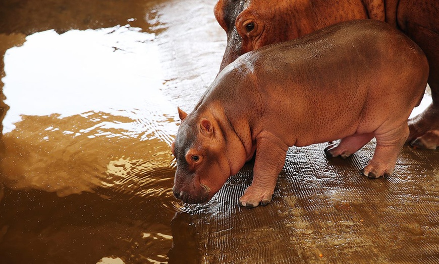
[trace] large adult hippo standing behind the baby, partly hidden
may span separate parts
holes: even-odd
[[[375,19],[400,29],[427,56],[433,99],[409,121],[407,142],[418,148],[439,146],[438,0],[219,0],[214,13],[227,33],[221,69],[248,51],[343,21]]]

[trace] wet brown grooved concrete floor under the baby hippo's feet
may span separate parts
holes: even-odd
[[[438,263],[438,153],[406,146],[392,176],[369,179],[359,170],[374,146],[345,160],[327,160],[325,144],[291,148],[273,201],[252,210],[237,206],[247,164],[186,210],[200,262]]]

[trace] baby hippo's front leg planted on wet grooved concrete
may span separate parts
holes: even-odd
[[[239,199],[247,208],[267,205],[276,187],[278,175],[285,164],[288,146],[275,135],[262,131],[256,137],[256,159],[253,181]]]

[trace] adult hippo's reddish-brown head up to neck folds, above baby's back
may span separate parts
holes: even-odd
[[[214,13],[227,33],[220,71],[246,52],[339,22],[384,21],[384,8],[382,1],[219,0]]]

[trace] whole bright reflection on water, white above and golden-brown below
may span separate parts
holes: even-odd
[[[160,90],[154,38],[129,26],[48,30],[7,50],[5,184],[172,197],[177,107]],[[123,159],[125,173],[107,170]]]

